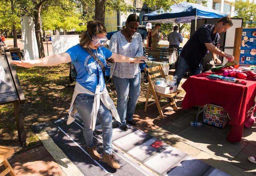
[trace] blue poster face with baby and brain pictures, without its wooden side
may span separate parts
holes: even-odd
[[[256,28],[243,28],[239,65],[256,65]]]

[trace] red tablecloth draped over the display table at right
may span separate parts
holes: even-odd
[[[240,142],[242,139],[244,123],[250,119],[254,110],[256,96],[256,79],[248,77],[236,78],[247,82],[246,85],[224,82],[206,78],[210,74],[222,75],[224,69],[216,72],[205,72],[190,76],[182,88],[186,95],[182,101],[182,108],[196,105],[216,104],[222,106],[230,116],[231,130],[227,136],[230,142]]]

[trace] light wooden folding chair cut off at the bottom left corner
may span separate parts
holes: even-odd
[[[10,163],[7,161],[7,158],[10,157],[14,153],[14,149],[9,147],[0,146],[0,164],[5,166],[5,170],[3,170],[0,175],[10,174],[11,176],[16,176],[14,170],[12,169]]]

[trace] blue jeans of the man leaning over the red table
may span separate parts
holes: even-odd
[[[190,70],[190,74],[192,76],[192,75],[200,74],[202,69],[203,69],[203,64],[201,64],[200,66],[197,66],[196,68],[191,68],[191,66],[187,63],[187,61],[182,56],[180,56],[178,66],[175,72],[175,74],[178,76],[177,86],[179,86],[181,79],[183,78],[187,70]]]

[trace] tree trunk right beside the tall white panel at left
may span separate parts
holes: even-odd
[[[38,47],[38,54],[39,58],[45,57],[44,55],[44,48],[43,48],[43,40],[42,40],[42,32],[41,32],[41,18],[40,18],[40,11],[41,6],[38,7],[37,10],[34,12],[34,23],[35,23],[35,34],[36,34],[36,41]]]

